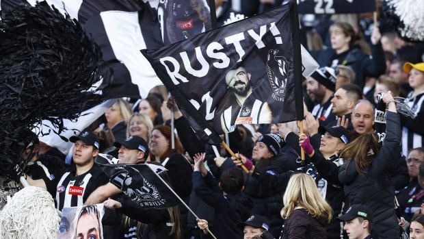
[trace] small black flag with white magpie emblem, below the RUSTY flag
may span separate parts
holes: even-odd
[[[98,164],[111,184],[144,208],[163,208],[181,204],[175,192],[161,179],[167,171],[155,164]]]

